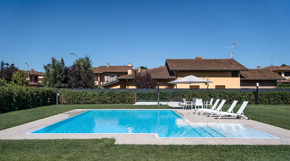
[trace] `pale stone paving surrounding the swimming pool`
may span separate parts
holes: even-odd
[[[275,137],[269,139],[250,138],[156,138],[154,134],[27,134],[31,131],[54,124],[87,110],[98,109],[76,109],[58,115],[32,121],[27,124],[15,126],[0,131],[0,139],[100,139],[115,138],[115,144],[224,144],[224,145],[290,145],[290,130],[264,124],[258,121],[236,119],[234,117],[222,117],[220,120],[207,115],[195,115],[192,110],[182,109],[160,109],[174,110],[191,123],[239,123],[249,128],[259,130]],[[104,109],[102,109],[104,110]],[[152,109],[151,109],[152,110]]]

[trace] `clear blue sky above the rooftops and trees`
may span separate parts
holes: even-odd
[[[52,56],[93,67],[165,64],[166,58],[229,58],[247,68],[290,64],[290,1],[0,0],[1,60],[44,71]]]

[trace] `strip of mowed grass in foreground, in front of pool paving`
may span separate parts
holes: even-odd
[[[290,160],[287,145],[117,145],[115,139],[0,140],[0,160]]]

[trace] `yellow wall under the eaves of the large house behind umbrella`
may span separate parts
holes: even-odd
[[[175,75],[176,74],[177,79],[189,75],[197,76],[199,78],[209,76],[209,81],[214,82],[209,83],[209,88],[215,88],[215,85],[225,85],[225,88],[227,89],[240,88],[240,71],[238,72],[238,77],[233,78],[231,77],[231,71],[175,71]],[[189,88],[190,85],[199,85],[200,88],[207,88],[204,83],[177,84],[175,88]]]

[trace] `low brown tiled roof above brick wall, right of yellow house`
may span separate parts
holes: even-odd
[[[268,69],[249,69],[240,72],[241,80],[284,80],[285,78]]]

